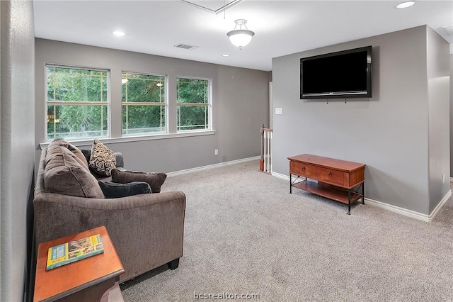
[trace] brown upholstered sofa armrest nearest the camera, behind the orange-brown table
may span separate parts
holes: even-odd
[[[181,191],[97,199],[41,193],[33,201],[36,244],[105,225],[125,268],[120,281],[183,255]]]

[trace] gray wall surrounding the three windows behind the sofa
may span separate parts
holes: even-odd
[[[35,40],[35,55],[37,143],[45,141],[45,64],[52,63],[110,69],[115,116],[121,111],[122,71],[166,74],[170,132],[176,132],[176,76],[212,79],[215,134],[107,144],[123,153],[127,169],[174,172],[260,155],[260,124],[269,121],[270,72],[42,39]],[[113,121],[113,137],[120,133],[121,122]],[[219,155],[214,155],[214,149]]]

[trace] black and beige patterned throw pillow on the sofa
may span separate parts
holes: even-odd
[[[91,156],[88,165],[98,174],[110,176],[112,169],[116,167],[115,154],[95,138],[93,146],[91,146]]]

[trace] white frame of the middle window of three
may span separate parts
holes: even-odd
[[[169,110],[169,100],[168,100],[168,74],[154,74],[154,73],[147,73],[147,72],[129,72],[126,70],[121,71],[121,80],[123,74],[137,74],[137,75],[144,75],[144,76],[156,76],[156,77],[164,77],[164,103],[159,102],[123,102],[122,101],[122,83],[121,83],[121,137],[122,138],[130,138],[135,136],[154,136],[154,135],[163,135],[168,133],[168,110]],[[131,104],[132,103],[132,104]],[[165,111],[165,127],[163,132],[147,132],[147,133],[132,133],[132,134],[123,134],[122,133],[122,106],[164,106]]]

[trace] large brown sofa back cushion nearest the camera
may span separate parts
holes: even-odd
[[[44,185],[46,191],[52,193],[104,198],[96,178],[62,145],[53,145],[47,149]]]

